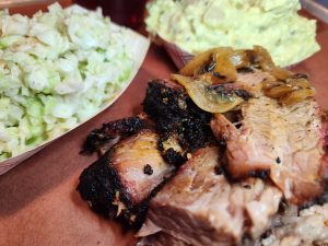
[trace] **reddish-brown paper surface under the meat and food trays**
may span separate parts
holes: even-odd
[[[318,23],[321,50],[293,70],[311,75],[318,101],[328,108],[328,25]],[[0,176],[0,245],[132,245],[115,222],[94,214],[75,191],[83,168],[96,156],[79,154],[89,131],[103,122],[139,113],[151,79],[176,71],[161,47],[151,46],[138,75],[104,113]]]

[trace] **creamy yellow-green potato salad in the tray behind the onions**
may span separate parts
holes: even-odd
[[[259,45],[286,67],[319,50],[316,22],[300,9],[298,0],[153,0],[145,22],[150,33],[194,55]]]

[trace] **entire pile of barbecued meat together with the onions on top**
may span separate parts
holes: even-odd
[[[149,83],[142,115],[89,134],[92,209],[141,227],[139,246],[328,245],[328,120],[307,77],[255,47],[171,79]]]

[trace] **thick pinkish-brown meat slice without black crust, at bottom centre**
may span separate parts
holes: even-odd
[[[151,201],[139,236],[163,232],[196,246],[231,246],[267,229],[282,194],[261,179],[231,185],[218,174],[218,152],[207,147],[192,154]]]

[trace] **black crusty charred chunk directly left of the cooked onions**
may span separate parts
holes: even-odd
[[[210,129],[211,114],[201,110],[181,89],[168,87],[161,80],[149,83],[143,110],[156,125],[161,134],[159,149],[172,164],[180,165],[186,154],[213,141]],[[163,142],[174,136],[183,152],[164,150]]]

